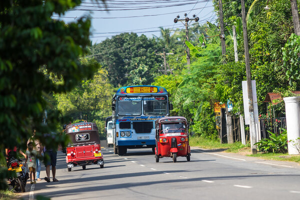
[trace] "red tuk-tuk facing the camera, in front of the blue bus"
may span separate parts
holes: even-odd
[[[190,160],[187,123],[183,116],[165,116],[155,121],[155,159],[172,157],[176,162],[177,156]]]

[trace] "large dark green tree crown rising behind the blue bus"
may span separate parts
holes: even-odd
[[[107,70],[109,82],[119,85],[150,84],[157,76],[163,59],[155,55],[162,51],[156,39],[136,33],[121,33],[91,47],[91,54]]]

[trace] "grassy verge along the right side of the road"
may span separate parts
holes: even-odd
[[[233,144],[220,143],[218,140],[208,139],[203,136],[190,136],[189,137],[190,146],[198,146],[200,148],[206,149],[220,149],[224,152],[239,153],[242,155],[258,157],[261,159],[272,159],[281,161],[292,161],[300,163],[300,155],[288,155],[288,153],[262,153],[257,152],[257,154],[252,155],[250,144],[247,143],[243,145],[241,142],[234,142]]]

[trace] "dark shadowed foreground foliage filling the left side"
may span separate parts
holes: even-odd
[[[51,19],[80,0],[12,0],[0,3],[0,150],[23,147],[32,127],[49,148],[66,139],[47,137],[56,131],[59,113],[48,101],[52,92],[61,93],[91,77],[98,64],[81,63],[88,52],[90,20],[78,18],[66,24]],[[43,111],[47,125],[42,125]],[[59,125],[60,126],[60,125]],[[1,173],[1,179],[3,173]],[[2,186],[2,185],[1,185]]]

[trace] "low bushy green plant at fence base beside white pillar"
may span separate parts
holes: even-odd
[[[263,138],[259,142],[256,142],[257,148],[261,152],[287,152],[287,132],[283,130],[280,134],[269,132],[269,139]]]

